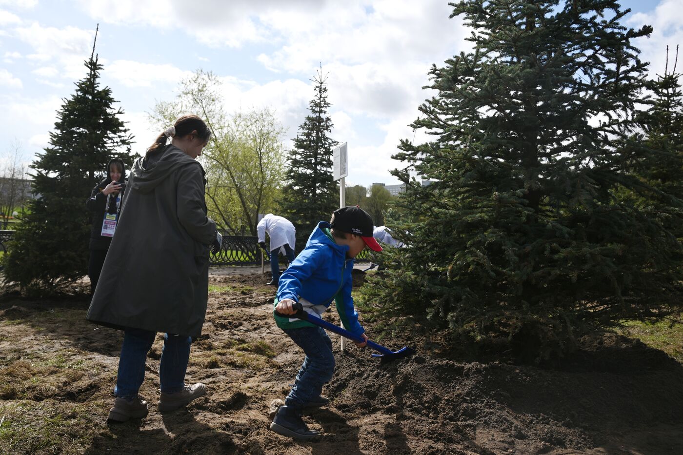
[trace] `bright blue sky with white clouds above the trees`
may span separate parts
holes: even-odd
[[[637,45],[652,74],[663,72],[665,46],[683,44],[683,0],[621,3],[632,9],[626,25],[654,26]],[[0,155],[18,143],[31,161],[47,145],[99,23],[102,83],[135,151],[158,135],[155,102],[198,68],[221,77],[226,111],[275,109],[289,147],[322,64],[332,136],[349,144],[347,184],[398,183],[391,155],[400,139],[421,140],[408,124],[430,96],[430,66],[469,49],[451,10],[443,0],[0,0]]]

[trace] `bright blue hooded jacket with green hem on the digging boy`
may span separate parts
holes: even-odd
[[[273,308],[283,299],[292,299],[301,303],[309,315],[320,318],[335,301],[344,328],[357,335],[365,332],[353,307],[351,271],[354,262],[346,258],[347,251],[347,245],[337,245],[333,239],[329,223],[320,221],[311,232],[306,247],[280,275]],[[316,327],[311,322],[277,316],[275,310],[273,315],[281,329]]]

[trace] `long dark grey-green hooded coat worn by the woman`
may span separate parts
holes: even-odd
[[[175,146],[135,161],[87,320],[197,337],[208,298],[204,169]]]

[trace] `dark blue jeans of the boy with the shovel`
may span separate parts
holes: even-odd
[[[283,329],[294,343],[303,349],[306,358],[296,374],[294,387],[285,398],[285,404],[295,409],[318,398],[322,386],[335,372],[335,356],[332,353],[332,340],[322,327],[300,327]]]

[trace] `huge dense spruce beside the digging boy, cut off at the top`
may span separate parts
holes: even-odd
[[[367,303],[534,357],[680,305],[675,238],[615,197],[643,187],[633,168],[650,150],[631,139],[647,64],[632,40],[652,27],[627,29],[609,0],[451,6],[473,51],[430,71],[437,94],[413,126],[435,139],[395,156],[409,247],[388,252]]]

